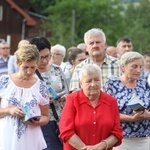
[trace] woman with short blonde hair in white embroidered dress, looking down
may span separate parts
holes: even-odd
[[[15,55],[19,71],[0,77],[0,149],[43,150],[47,146],[40,126],[49,121],[49,94],[35,75],[40,55],[31,44]],[[41,117],[24,121],[25,107],[31,116]]]

